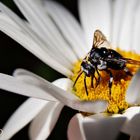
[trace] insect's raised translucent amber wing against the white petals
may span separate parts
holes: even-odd
[[[107,41],[105,35],[100,30],[96,30],[94,32],[93,48],[94,47],[95,48],[105,47],[107,49],[111,48],[111,44]]]

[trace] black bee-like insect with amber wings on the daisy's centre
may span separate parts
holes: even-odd
[[[105,71],[109,74],[110,79],[108,81],[109,93],[111,95],[111,87],[113,82],[112,70],[123,70],[127,75],[132,76],[132,73],[127,68],[126,64],[140,65],[140,61],[124,58],[117,51],[109,48],[110,43],[100,30],[94,32],[93,45],[89,53],[81,62],[81,70],[73,84],[75,86],[77,80],[84,73],[84,86],[86,94],[88,95],[88,89],[86,84],[86,77],[91,77],[91,87],[93,86],[93,80],[96,80],[96,87],[100,83],[101,76],[99,71]],[[98,78],[95,77],[95,72],[98,74]]]

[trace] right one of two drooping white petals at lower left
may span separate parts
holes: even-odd
[[[54,128],[63,104],[58,102],[50,102],[36,116],[30,126],[30,138],[35,140],[45,140]]]

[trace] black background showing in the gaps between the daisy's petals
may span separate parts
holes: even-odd
[[[12,0],[0,0],[13,11],[15,11],[20,17],[24,18],[20,13],[16,5]],[[77,1],[76,0],[55,0],[64,5],[79,21]],[[12,40],[10,37],[0,31],[0,72],[6,74],[12,74],[16,68],[25,68],[30,70],[49,81],[53,81],[57,78],[64,77],[58,72],[51,69],[46,64],[42,63],[38,58],[25,50],[20,44]],[[0,90],[0,128],[3,127],[5,122],[11,116],[11,114],[22,104],[27,97],[16,95],[10,92]],[[68,107],[64,107],[60,118],[51,133],[49,140],[65,140],[67,139],[66,130],[67,124],[70,118],[77,111]],[[21,116],[22,117],[22,116]],[[29,124],[30,125],[30,124]],[[17,133],[11,140],[28,140],[28,126],[23,128]],[[118,139],[127,139],[128,136],[121,134]]]

